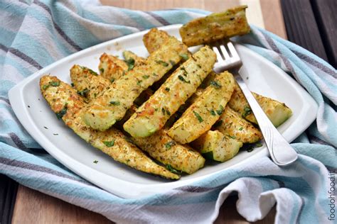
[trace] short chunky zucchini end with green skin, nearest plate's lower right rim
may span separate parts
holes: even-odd
[[[242,147],[242,142],[229,138],[218,130],[208,130],[200,138],[191,142],[193,148],[208,159],[225,162],[232,159]]]

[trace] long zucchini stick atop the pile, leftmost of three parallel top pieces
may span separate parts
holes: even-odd
[[[123,118],[142,91],[163,77],[181,60],[180,55],[186,52],[186,45],[170,37],[165,45],[147,58],[146,65],[127,72],[113,82],[102,96],[90,103],[83,114],[85,123],[96,130],[107,130]]]

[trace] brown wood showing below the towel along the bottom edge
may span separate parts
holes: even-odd
[[[236,211],[236,196],[228,197],[223,206],[220,208],[218,219],[215,224],[227,223],[248,223]],[[274,223],[275,207],[268,215],[256,222],[259,224]],[[28,189],[26,186],[20,185],[18,187],[18,194],[16,196],[16,205],[14,207],[14,215],[12,218],[13,224],[21,223],[100,223],[108,224],[112,221],[105,218],[105,216],[85,208],[74,206],[73,204],[62,201],[58,198],[42,194],[33,189]]]

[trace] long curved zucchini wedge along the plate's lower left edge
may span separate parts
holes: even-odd
[[[45,75],[40,79],[41,93],[50,108],[58,118],[62,118],[69,128],[90,145],[101,150],[117,162],[149,174],[156,174],[167,179],[179,179],[179,176],[169,172],[164,167],[153,162],[139,148],[125,139],[117,129],[111,128],[105,132],[92,130],[83,123],[79,116],[85,104],[70,85],[57,77]]]

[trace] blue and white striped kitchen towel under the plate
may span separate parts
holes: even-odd
[[[137,199],[109,194],[70,172],[23,129],[8,91],[38,69],[105,40],[156,26],[186,23],[209,12],[196,9],[132,11],[80,1],[0,1],[0,173],[20,184],[118,223],[211,223],[237,192],[248,221],[277,206],[276,223],[336,220],[336,69],[311,52],[252,26],[242,44],[281,67],[314,97],[316,121],[291,145],[299,159],[277,167],[269,157],[226,169],[189,186]]]

